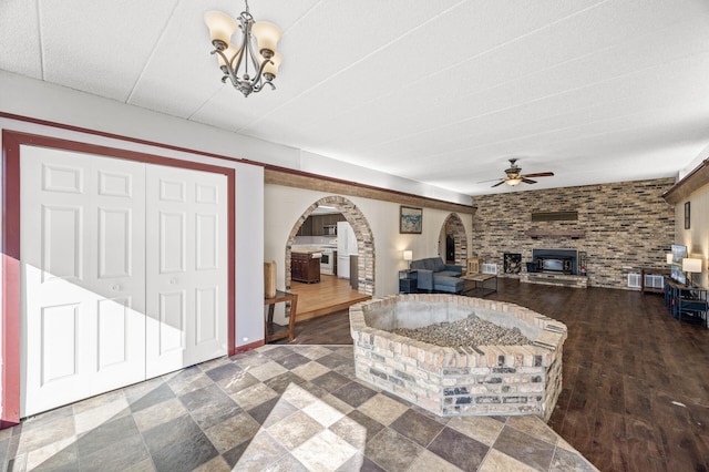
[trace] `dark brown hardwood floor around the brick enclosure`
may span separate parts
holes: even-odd
[[[709,330],[662,297],[500,279],[497,294],[568,327],[549,427],[602,471],[709,471]],[[296,325],[295,343],[351,343],[347,310]]]

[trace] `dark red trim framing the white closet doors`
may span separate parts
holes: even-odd
[[[2,131],[2,413],[0,429],[20,422],[20,146],[33,145],[100,156],[223,174],[227,177],[227,355],[235,353],[235,195],[236,171],[147,153],[17,131]]]

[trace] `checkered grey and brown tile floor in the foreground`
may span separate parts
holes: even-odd
[[[536,417],[440,418],[351,346],[264,346],[0,431],[8,471],[594,471]]]

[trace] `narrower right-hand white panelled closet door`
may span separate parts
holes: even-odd
[[[147,167],[148,378],[227,353],[226,182]]]

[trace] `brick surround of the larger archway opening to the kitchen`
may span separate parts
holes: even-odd
[[[320,198],[305,211],[300,218],[296,222],[288,242],[286,243],[286,261],[284,267],[286,268],[286,288],[290,289],[290,252],[298,229],[305,223],[318,206],[331,206],[337,208],[345,219],[350,224],[354,230],[357,237],[357,253],[358,253],[358,269],[357,269],[357,290],[360,294],[373,296],[374,295],[374,237],[369,226],[369,222],[364,218],[364,215],[360,209],[349,199],[342,196],[327,196]]]

